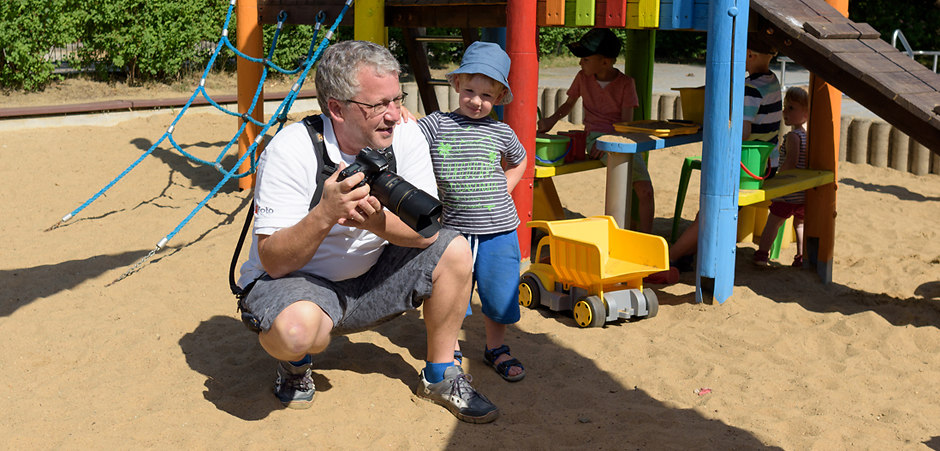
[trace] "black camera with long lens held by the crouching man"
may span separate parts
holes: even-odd
[[[356,155],[356,161],[340,171],[337,181],[357,172],[365,178],[356,187],[368,184],[370,193],[408,227],[429,238],[441,228],[441,203],[392,172],[395,154],[392,148],[375,150],[366,147]]]

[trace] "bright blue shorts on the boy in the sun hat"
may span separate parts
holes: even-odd
[[[518,322],[522,254],[516,231],[465,236],[474,251],[473,283],[483,304],[483,314],[499,324]]]

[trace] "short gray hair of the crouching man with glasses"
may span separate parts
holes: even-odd
[[[327,47],[317,63],[314,79],[317,102],[329,114],[329,99],[349,100],[359,94],[359,69],[370,67],[380,75],[401,73],[401,66],[385,47],[368,41],[341,41]]]

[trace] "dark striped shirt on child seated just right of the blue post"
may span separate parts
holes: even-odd
[[[783,118],[783,100],[780,82],[773,72],[751,74],[744,81],[744,120],[751,123],[747,141],[777,144],[780,120]],[[780,151],[770,154],[770,167],[779,166]]]

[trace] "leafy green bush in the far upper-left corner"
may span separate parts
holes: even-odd
[[[75,19],[66,0],[0,2],[0,87],[35,91],[56,80],[45,56],[74,41]]]

